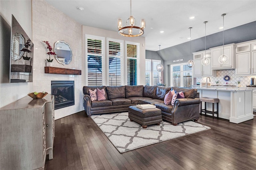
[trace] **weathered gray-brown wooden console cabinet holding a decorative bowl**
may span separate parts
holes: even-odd
[[[21,98],[0,108],[0,169],[44,169],[53,158],[54,96]]]

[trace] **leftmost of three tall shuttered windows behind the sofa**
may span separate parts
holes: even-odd
[[[86,65],[88,86],[104,84],[104,39],[86,35]]]

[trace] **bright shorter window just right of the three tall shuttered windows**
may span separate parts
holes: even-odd
[[[156,70],[157,64],[160,64],[161,60],[151,60],[146,59],[146,85],[147,86],[156,86],[161,84],[161,72]]]

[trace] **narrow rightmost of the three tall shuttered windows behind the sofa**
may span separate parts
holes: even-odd
[[[135,86],[138,84],[138,43],[126,42],[127,56],[127,85]]]

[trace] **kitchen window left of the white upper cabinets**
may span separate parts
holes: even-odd
[[[171,86],[189,88],[192,80],[192,67],[186,63],[171,65]]]

